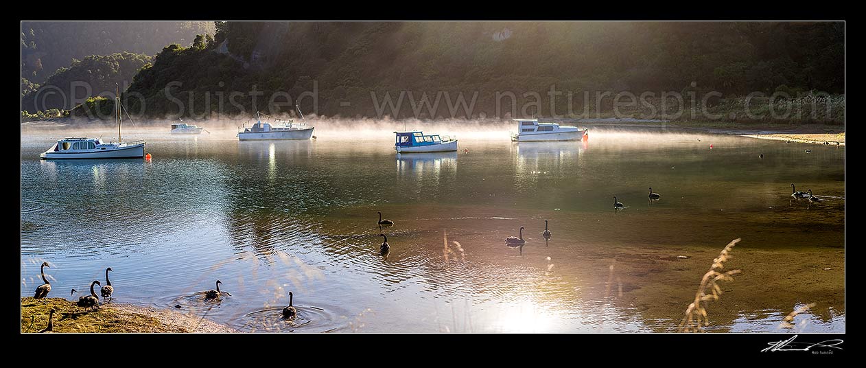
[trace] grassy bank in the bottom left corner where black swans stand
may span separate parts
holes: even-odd
[[[111,303],[87,311],[62,298],[48,298],[47,303],[21,298],[21,332],[42,331],[48,326],[51,309],[55,310],[53,332],[234,332],[171,310]]]

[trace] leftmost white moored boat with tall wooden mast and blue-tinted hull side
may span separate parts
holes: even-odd
[[[145,157],[145,142],[124,142],[120,136],[121,111],[120,97],[114,100],[114,118],[117,119],[118,143],[103,142],[97,138],[64,138],[39,155],[42,159],[71,158],[143,158]]]

